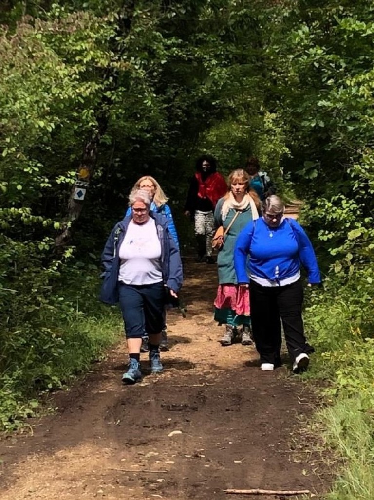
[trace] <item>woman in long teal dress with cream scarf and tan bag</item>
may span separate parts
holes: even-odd
[[[223,246],[218,251],[218,289],[214,300],[214,319],[225,325],[221,345],[231,345],[242,325],[241,343],[252,343],[250,335],[249,291],[237,284],[233,265],[233,252],[236,237],[245,225],[258,218],[260,201],[250,188],[250,177],[243,169],[232,171],[228,176],[228,191],[218,200],[214,210],[214,221],[217,227],[223,226],[225,231]]]

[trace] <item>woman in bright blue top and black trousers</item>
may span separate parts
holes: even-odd
[[[292,371],[299,373],[309,364],[311,348],[302,323],[300,267],[306,269],[308,284],[312,285],[320,283],[318,264],[303,228],[283,217],[282,200],[270,195],[262,207],[262,217],[249,222],[237,237],[237,282],[249,287],[252,333],[261,369],[273,370],[280,364],[280,316]]]

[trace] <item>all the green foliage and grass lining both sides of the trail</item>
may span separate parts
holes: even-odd
[[[305,324],[336,403],[326,442],[347,463],[329,498],[371,500],[372,2],[9,1],[0,21],[0,428],[118,337],[98,260],[133,181],[161,183],[184,249],[194,157],[228,173],[254,154],[305,200],[326,274]],[[84,210],[57,253],[84,155]]]

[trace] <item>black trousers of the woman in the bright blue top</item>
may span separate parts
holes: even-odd
[[[277,364],[280,358],[281,328],[293,362],[307,346],[302,323],[304,292],[301,280],[284,286],[261,286],[250,282],[250,319],[261,363]]]

